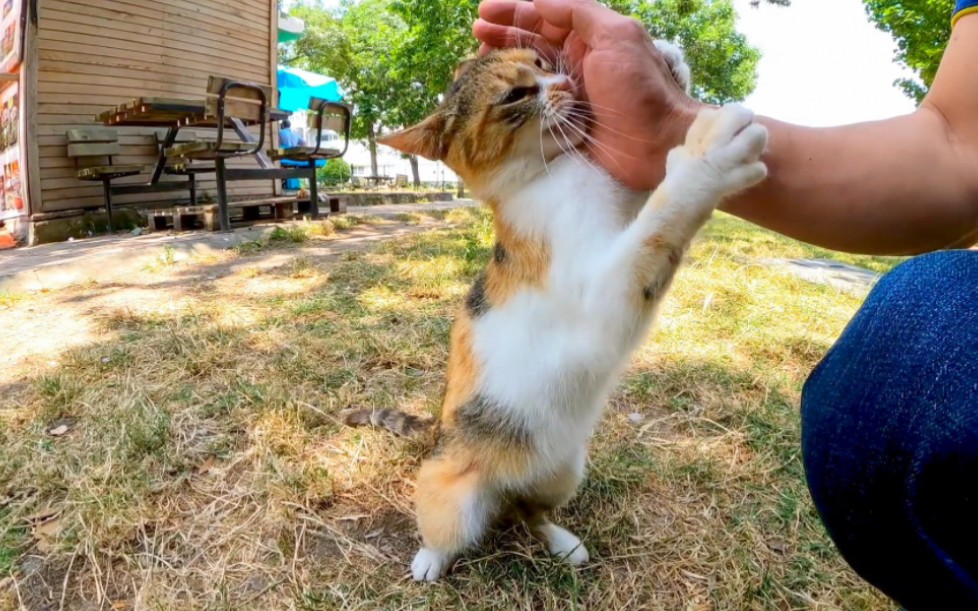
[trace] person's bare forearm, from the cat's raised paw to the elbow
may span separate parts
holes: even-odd
[[[933,110],[833,128],[761,122],[769,178],[727,211],[852,252],[914,254],[978,239],[978,155],[950,139]]]

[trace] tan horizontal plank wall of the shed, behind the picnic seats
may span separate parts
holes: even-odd
[[[72,127],[94,125],[97,113],[139,96],[203,99],[211,75],[274,86],[277,13],[273,2],[40,0],[33,137],[40,157],[41,211],[102,203],[101,185],[74,178],[64,137]],[[125,155],[116,163],[154,163],[154,135],[162,139],[165,130],[118,129]],[[202,179],[199,192],[216,197],[213,175]],[[143,175],[117,184],[147,180]],[[273,185],[272,181],[230,183],[229,192],[268,195]],[[119,202],[186,197],[184,192],[146,194],[119,198]]]

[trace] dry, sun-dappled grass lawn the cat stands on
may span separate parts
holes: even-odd
[[[860,298],[752,264],[841,257],[725,215],[559,517],[591,563],[513,527],[411,583],[424,443],[336,415],[438,405],[452,313],[491,246],[484,212],[438,227],[330,261],[303,250],[326,238],[283,231],[132,282],[0,296],[0,328],[29,344],[0,356],[0,609],[894,609],[832,547],[799,456],[801,385]]]

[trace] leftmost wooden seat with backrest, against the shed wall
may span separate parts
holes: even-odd
[[[74,159],[78,180],[101,182],[105,193],[105,211],[109,216],[108,228],[112,232],[112,181],[136,176],[145,171],[141,165],[113,165],[112,158],[122,155],[119,134],[114,129],[91,127],[69,129],[68,157]]]

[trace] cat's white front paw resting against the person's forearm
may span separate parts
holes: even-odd
[[[767,129],[754,122],[754,113],[729,104],[700,111],[686,133],[686,143],[666,160],[666,178],[678,184],[698,184],[720,198],[751,187],[767,176],[761,154]]]

